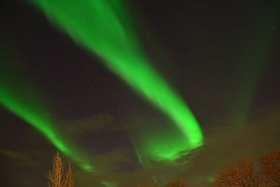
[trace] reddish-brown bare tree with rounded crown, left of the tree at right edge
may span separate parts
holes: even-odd
[[[243,158],[237,165],[228,165],[219,170],[215,187],[259,187],[260,176],[251,159]]]

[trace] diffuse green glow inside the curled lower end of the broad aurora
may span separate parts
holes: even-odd
[[[134,148],[141,165],[148,167],[151,160],[173,162],[181,153],[189,151],[185,134],[168,122],[145,120],[136,123],[138,128],[132,134]]]

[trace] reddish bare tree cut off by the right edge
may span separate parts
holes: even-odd
[[[265,186],[280,186],[280,147],[258,158]]]

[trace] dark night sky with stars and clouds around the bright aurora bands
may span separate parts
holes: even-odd
[[[218,168],[280,145],[280,1],[124,4],[145,55],[204,133],[203,146],[172,163],[150,160],[144,167],[133,143],[168,134],[175,126],[166,113],[50,23],[36,1],[0,3],[0,74],[8,75],[0,75],[0,93],[4,86],[27,90],[13,94],[46,109],[55,130],[87,155],[94,173],[62,153],[73,162],[76,186],[173,179],[209,186]],[[0,186],[43,187],[57,147],[23,118],[0,102]]]

